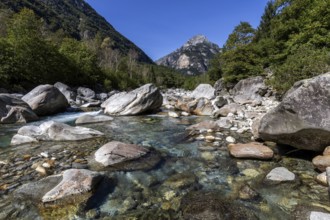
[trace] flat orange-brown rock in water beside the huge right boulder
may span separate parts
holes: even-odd
[[[229,144],[229,153],[236,158],[272,159],[274,152],[267,146],[258,142],[248,144]]]

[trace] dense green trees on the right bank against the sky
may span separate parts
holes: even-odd
[[[256,30],[247,22],[235,27],[209,77],[237,82],[270,72],[269,84],[283,93],[298,80],[330,70],[329,45],[329,1],[271,0]]]

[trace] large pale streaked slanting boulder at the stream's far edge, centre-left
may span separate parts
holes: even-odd
[[[153,84],[146,84],[131,92],[117,93],[101,105],[109,115],[138,115],[156,111],[163,104],[163,96]]]

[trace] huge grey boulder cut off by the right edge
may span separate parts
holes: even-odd
[[[330,73],[299,81],[260,121],[263,140],[322,151],[330,145]]]

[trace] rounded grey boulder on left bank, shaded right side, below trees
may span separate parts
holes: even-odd
[[[68,106],[65,96],[52,85],[40,85],[22,97],[38,116],[64,111]]]

